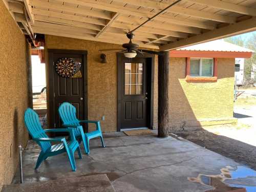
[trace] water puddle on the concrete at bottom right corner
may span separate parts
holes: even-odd
[[[214,187],[207,192],[255,192],[256,171],[246,166],[226,166],[219,175],[188,177],[189,181]]]

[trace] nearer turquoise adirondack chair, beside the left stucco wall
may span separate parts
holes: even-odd
[[[28,108],[24,115],[25,124],[32,139],[41,147],[41,152],[36,162],[35,169],[39,167],[42,161],[50,156],[55,156],[67,152],[71,168],[73,172],[76,171],[76,164],[74,152],[77,150],[79,158],[82,158],[79,143],[75,139],[73,129],[42,129],[37,113]],[[69,132],[70,140],[67,141],[65,137],[49,138],[46,132]],[[60,142],[52,144],[51,142]]]

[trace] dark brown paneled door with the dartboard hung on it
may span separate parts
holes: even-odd
[[[87,119],[87,75],[86,75],[86,54],[72,50],[53,50],[49,54],[49,61],[52,60],[53,76],[53,120],[55,127],[61,127],[61,120],[58,115],[59,105],[63,102],[70,102],[76,107],[78,119]],[[79,72],[72,77],[61,77],[56,69],[59,59],[71,58],[75,63],[80,63]],[[51,90],[50,90],[51,91]]]

